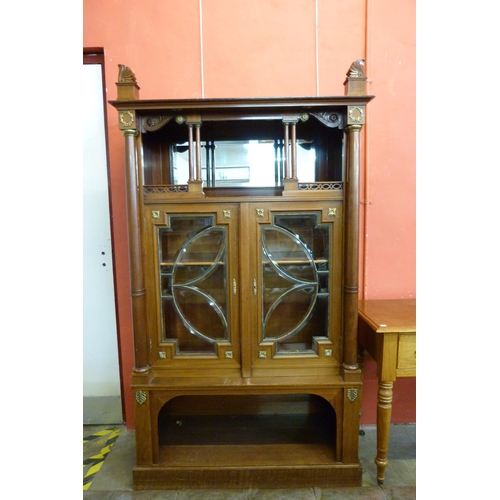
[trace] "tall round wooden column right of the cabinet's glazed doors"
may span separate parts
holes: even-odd
[[[358,366],[358,255],[359,255],[359,133],[361,125],[347,127],[347,216],[346,273],[344,285],[344,360],[346,370],[357,370]]]

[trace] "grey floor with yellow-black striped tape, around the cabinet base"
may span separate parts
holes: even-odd
[[[134,491],[135,433],[125,426],[83,426],[84,500],[414,500],[416,498],[416,425],[392,425],[385,481],[377,483],[376,427],[362,426],[359,488],[294,490]],[[90,437],[90,438],[89,438]],[[87,439],[86,439],[87,438]]]

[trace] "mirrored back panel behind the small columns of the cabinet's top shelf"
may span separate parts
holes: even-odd
[[[283,186],[286,145],[281,120],[203,122],[200,126],[201,177],[207,188]],[[296,167],[300,182],[343,179],[344,133],[314,117],[296,124]],[[196,141],[194,142],[196,147]],[[189,181],[187,127],[171,120],[143,134],[145,185]],[[193,154],[193,153],[192,153]]]

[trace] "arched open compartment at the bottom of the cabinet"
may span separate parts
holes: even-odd
[[[160,464],[328,465],[335,433],[335,412],[319,396],[178,397],[159,415]]]

